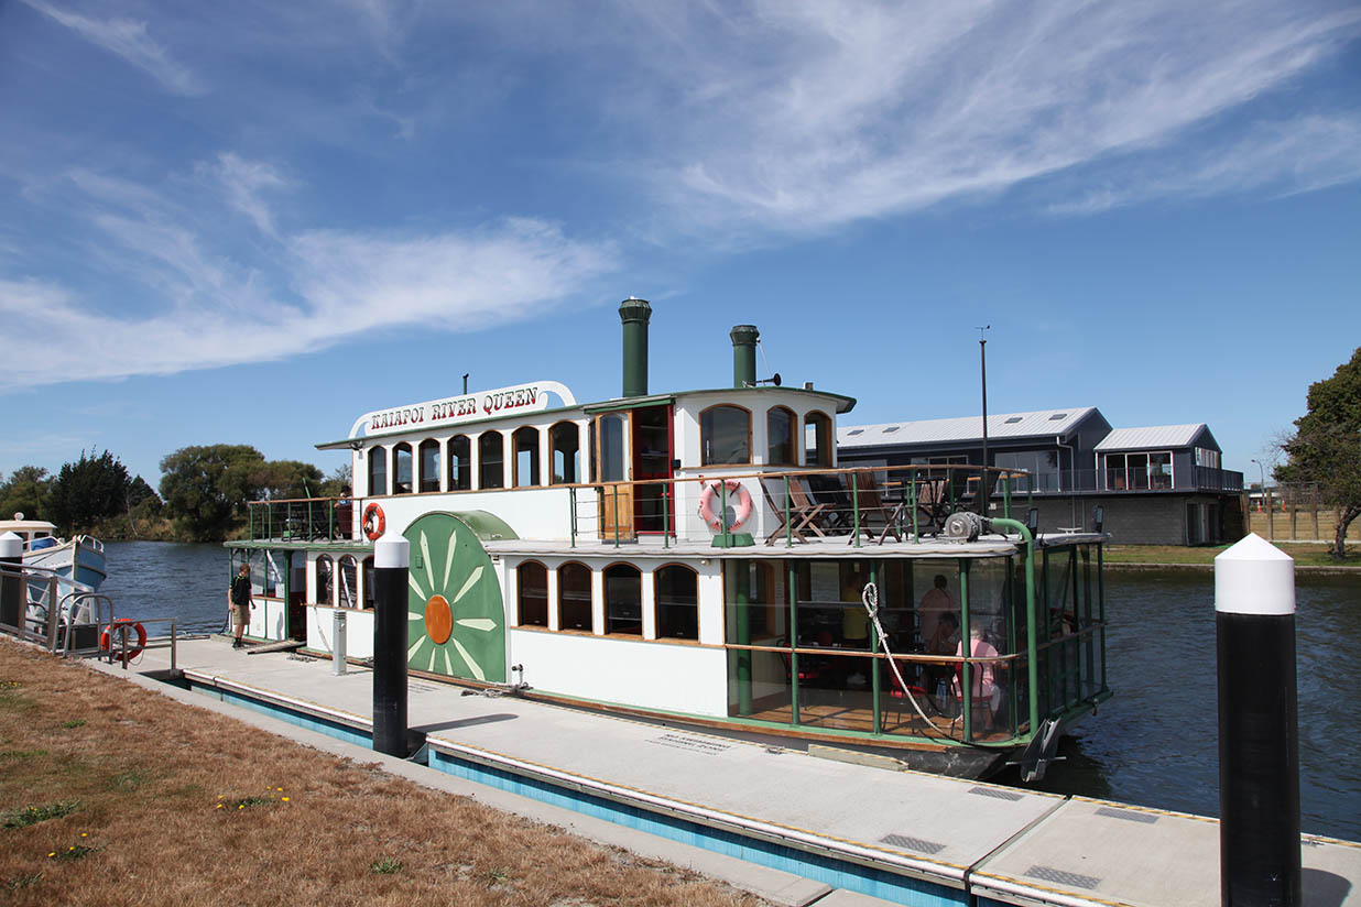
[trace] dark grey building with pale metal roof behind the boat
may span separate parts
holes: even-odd
[[[1040,526],[1089,525],[1124,544],[1207,544],[1243,534],[1243,473],[1219,465],[1204,423],[1112,428],[1096,407],[988,416],[988,464],[1023,470]],[[841,466],[979,464],[977,416],[837,428]],[[1000,490],[994,488],[994,503]]]

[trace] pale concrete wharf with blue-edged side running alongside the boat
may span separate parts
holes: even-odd
[[[129,673],[165,676],[169,668],[169,650],[151,649]],[[196,694],[347,741],[339,744],[347,755],[381,761],[369,748],[366,669],[336,676],[329,661],[246,654],[220,638],[181,640],[178,668]],[[777,903],[1219,903],[1214,819],[889,771],[427,680],[412,679],[408,689],[410,725],[429,753],[429,768],[410,771],[485,785],[499,791],[494,805],[512,795],[516,812],[566,809],[729,865],[735,858],[754,868],[750,877],[759,881],[750,888]],[[1361,843],[1301,842],[1305,903],[1361,906]],[[743,884],[740,872],[728,876]]]

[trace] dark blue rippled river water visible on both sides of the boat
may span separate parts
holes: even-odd
[[[129,541],[106,552],[102,592],[118,616],[222,627],[225,548]],[[1361,840],[1361,577],[1301,574],[1296,602],[1301,825]],[[1066,760],[1038,786],[1218,815],[1213,575],[1108,571],[1106,617],[1115,699],[1062,741]]]

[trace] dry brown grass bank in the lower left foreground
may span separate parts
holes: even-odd
[[[0,640],[0,903],[762,902]]]

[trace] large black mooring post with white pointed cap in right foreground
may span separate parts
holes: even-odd
[[[1214,559],[1219,903],[1302,904],[1294,559],[1258,534]]]

